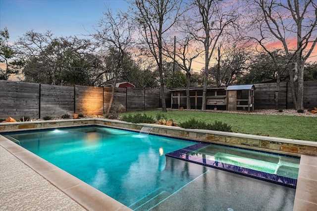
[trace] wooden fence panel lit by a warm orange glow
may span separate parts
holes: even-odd
[[[103,87],[75,85],[75,113],[93,115],[104,113]]]

